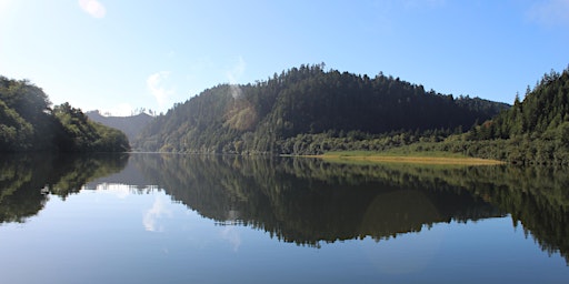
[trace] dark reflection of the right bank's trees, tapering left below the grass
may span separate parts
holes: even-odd
[[[331,179],[330,171],[319,168],[338,168],[335,175],[348,172],[348,176],[361,175],[380,179],[408,189],[437,189],[466,193],[482,199],[501,212],[511,214],[513,223],[523,224],[548,253],[560,252],[569,263],[569,175],[565,168],[516,166],[419,166],[408,164],[383,165],[312,165],[297,174],[317,173],[319,179]],[[355,170],[358,169],[358,170]],[[349,179],[345,179],[349,180]],[[440,200],[440,199],[439,199]],[[433,201],[435,202],[435,201]],[[448,200],[439,206],[452,206]],[[477,212],[465,211],[455,219],[483,217]]]

